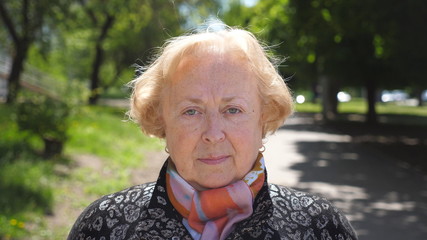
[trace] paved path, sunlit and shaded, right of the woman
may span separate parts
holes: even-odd
[[[403,162],[310,118],[289,119],[265,146],[270,182],[327,197],[361,240],[427,239],[427,176]]]

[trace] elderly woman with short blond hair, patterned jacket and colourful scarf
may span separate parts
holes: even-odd
[[[133,84],[130,116],[170,157],[156,182],[92,203],[68,239],[357,239],[327,200],[267,182],[263,138],[292,97],[251,33],[174,38]]]

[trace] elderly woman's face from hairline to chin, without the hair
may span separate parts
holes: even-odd
[[[165,86],[162,118],[178,173],[198,190],[242,179],[262,146],[261,99],[246,63],[184,57]]]

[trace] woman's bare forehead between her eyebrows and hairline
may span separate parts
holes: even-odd
[[[247,62],[230,54],[191,55],[181,59],[165,93],[172,101],[182,98],[258,99],[256,77]]]

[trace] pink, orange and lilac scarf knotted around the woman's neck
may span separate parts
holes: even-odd
[[[201,240],[225,239],[234,224],[252,214],[255,196],[265,180],[264,158],[260,153],[252,170],[237,182],[205,191],[195,190],[169,162],[166,187],[169,200],[188,221]]]

